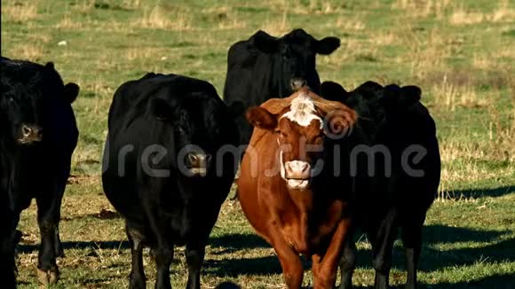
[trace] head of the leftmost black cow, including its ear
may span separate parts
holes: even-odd
[[[1,86],[0,126],[18,144],[43,139],[46,100],[64,97],[71,102],[79,91],[75,83],[63,88],[52,62],[40,66],[9,59],[2,59]]]

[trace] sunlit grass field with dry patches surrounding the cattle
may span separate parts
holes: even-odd
[[[343,2],[343,1],[342,1]],[[123,221],[99,184],[107,110],[115,89],[148,71],[212,82],[218,93],[226,51],[258,29],[281,35],[303,27],[342,46],[318,59],[322,80],[353,89],[361,82],[423,88],[437,121],[443,159],[440,198],[424,230],[420,282],[428,288],[515,285],[515,2],[513,0],[2,0],[2,55],[54,61],[77,82],[81,131],[73,176],[63,200],[57,288],[128,286],[130,251]],[[416,193],[416,192],[414,192]],[[36,288],[36,209],[22,214],[20,288]],[[392,284],[403,285],[396,243]],[[354,285],[370,286],[370,246],[360,238]],[[172,285],[186,282],[183,248]],[[146,253],[147,285],[155,267]],[[202,275],[212,288],[231,280],[244,288],[283,287],[273,249],[256,237],[238,202],[220,213]],[[306,271],[305,285],[311,282]]]

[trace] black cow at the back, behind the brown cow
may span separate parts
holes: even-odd
[[[249,40],[234,43],[227,55],[224,100],[245,111],[270,98],[289,97],[307,85],[320,90],[316,54],[328,55],[340,46],[336,37],[316,40],[303,29],[276,38],[259,30]],[[252,128],[244,115],[236,118],[242,144],[248,144]]]

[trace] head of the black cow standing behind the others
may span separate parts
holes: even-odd
[[[316,54],[328,55],[337,50],[340,40],[337,37],[315,39],[303,29],[295,29],[289,34],[276,38],[258,31],[252,40],[256,48],[266,54],[273,54],[278,65],[275,73],[279,77],[281,92],[289,96],[304,86],[318,92],[320,79],[316,72]]]

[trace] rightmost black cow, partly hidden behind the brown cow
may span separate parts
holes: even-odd
[[[425,214],[440,184],[436,127],[419,102],[421,90],[365,82],[348,93],[335,82],[324,82],[321,94],[342,101],[360,115],[361,144],[368,145],[368,160],[356,162],[359,171],[350,207],[356,228],[367,233],[372,245],[376,288],[388,288],[392,246],[399,228],[406,252],[406,288],[416,288]],[[390,157],[382,157],[381,152]],[[347,238],[340,263],[341,289],[352,287],[355,250],[353,238]]]

